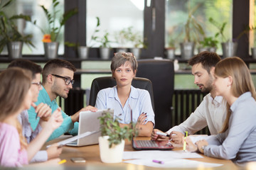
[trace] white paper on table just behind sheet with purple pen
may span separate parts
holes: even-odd
[[[196,152],[183,152],[181,151],[159,151],[159,150],[146,150],[146,151],[131,151],[124,152],[123,159],[178,159],[178,158],[203,158]]]

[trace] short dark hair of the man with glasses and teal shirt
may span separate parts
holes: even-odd
[[[46,62],[46,65],[43,67],[43,83],[46,82],[48,74],[53,74],[56,69],[62,68],[70,69],[73,72],[76,71],[75,66],[66,60],[53,59]]]

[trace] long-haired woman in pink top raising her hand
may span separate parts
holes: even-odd
[[[22,135],[18,115],[31,107],[31,72],[20,68],[9,68],[0,74],[0,166],[22,166],[28,164],[41,149],[50,134],[63,122],[60,110],[48,120],[46,128],[30,145]],[[59,159],[55,159],[58,162]],[[53,164],[53,162],[50,162]]]

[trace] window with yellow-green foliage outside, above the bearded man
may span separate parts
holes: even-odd
[[[193,11],[194,10],[194,11]],[[165,46],[169,47],[169,42],[175,42],[175,47],[179,49],[178,42],[183,42],[185,36],[185,24],[188,19],[188,13],[199,23],[206,37],[213,37],[218,33],[218,29],[209,22],[212,17],[215,21],[222,24],[227,22],[224,35],[227,40],[232,38],[232,18],[233,1],[231,0],[166,0],[166,35]],[[191,33],[191,36],[199,37],[203,40],[200,33]],[[222,55],[220,42],[223,40],[218,36],[218,54]],[[198,47],[198,42],[196,47]],[[196,50],[195,50],[196,53]],[[176,50],[176,55],[180,55],[180,50]]]

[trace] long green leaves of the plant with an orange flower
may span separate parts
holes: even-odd
[[[65,12],[63,16],[60,18],[59,25],[57,26],[57,24],[55,24],[55,20],[57,19],[57,16],[58,16],[59,10],[57,8],[59,4],[60,2],[58,0],[53,0],[53,13],[50,13],[50,11],[48,11],[48,9],[45,8],[45,6],[41,6],[44,13],[46,14],[46,18],[48,21],[48,29],[43,30],[39,26],[37,27],[41,30],[43,35],[47,35],[47,34],[50,35],[51,42],[55,42],[58,39],[58,35],[60,34],[60,29],[65,25],[65,22],[68,21],[68,19],[71,16],[78,13],[77,8],[73,8],[70,11]]]

